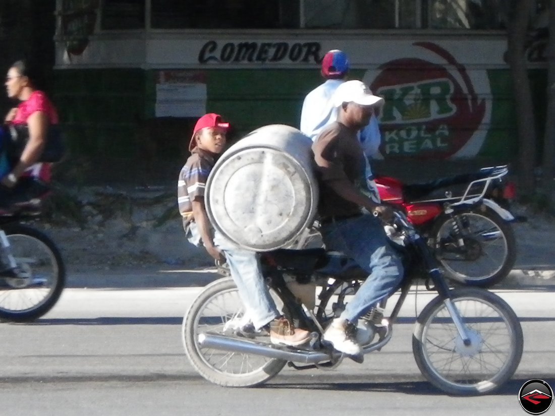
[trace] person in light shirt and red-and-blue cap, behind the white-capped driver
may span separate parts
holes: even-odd
[[[320,73],[326,81],[306,95],[301,110],[300,130],[312,141],[317,139],[322,129],[337,119],[337,108],[332,97],[337,87],[347,80],[348,72],[349,58],[345,52],[332,49],[324,55]],[[367,158],[374,156],[381,143],[380,128],[374,114],[368,125],[360,131],[358,137]],[[368,160],[366,160],[366,177],[370,196],[379,203],[380,197]]]

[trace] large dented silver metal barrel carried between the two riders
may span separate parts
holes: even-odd
[[[273,124],[226,150],[206,182],[206,211],[215,229],[255,251],[294,242],[316,215],[311,145],[299,130]]]

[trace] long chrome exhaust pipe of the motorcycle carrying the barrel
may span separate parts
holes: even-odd
[[[341,353],[334,352],[333,356],[321,351],[291,351],[280,349],[274,345],[262,345],[246,339],[228,338],[213,334],[199,334],[199,345],[203,348],[221,349],[223,351],[240,352],[244,354],[255,354],[268,358],[284,359],[303,364],[317,364],[339,358]]]

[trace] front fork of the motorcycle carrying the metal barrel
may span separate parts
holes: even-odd
[[[426,266],[426,270],[428,271],[428,275],[433,282],[435,290],[443,298],[443,304],[447,308],[451,319],[453,319],[453,323],[455,323],[459,336],[465,346],[469,346],[471,342],[470,337],[468,337],[467,334],[465,323],[462,321],[461,314],[458,312],[457,307],[451,299],[451,290],[447,285],[447,281],[443,277],[442,272],[440,271],[438,261],[430,253],[430,250],[428,250],[426,242],[422,239],[422,237],[418,236],[414,242],[418,248],[418,252],[423,258],[424,265]]]

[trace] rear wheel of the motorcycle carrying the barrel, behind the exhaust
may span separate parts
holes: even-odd
[[[225,387],[251,387],[268,381],[285,366],[286,361],[281,359],[200,346],[200,334],[225,335],[226,327],[243,317],[243,303],[230,277],[206,286],[186,312],[181,327],[185,352],[206,380]]]

